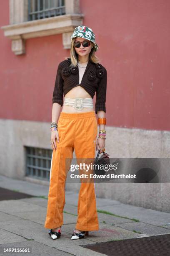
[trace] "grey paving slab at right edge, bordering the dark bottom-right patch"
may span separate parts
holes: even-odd
[[[162,227],[157,227],[155,225],[151,225],[148,223],[135,222],[135,223],[123,223],[116,224],[117,227],[125,228],[128,230],[135,230],[137,232],[146,234],[146,235],[162,235],[162,234],[170,234],[170,230]]]

